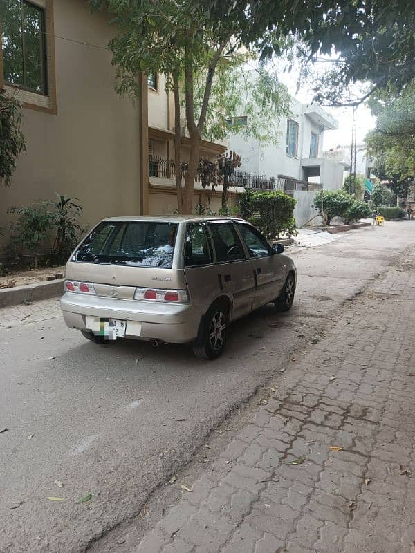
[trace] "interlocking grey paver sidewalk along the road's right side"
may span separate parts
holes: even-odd
[[[415,552],[415,256],[406,257],[276,375],[273,399],[134,553]]]

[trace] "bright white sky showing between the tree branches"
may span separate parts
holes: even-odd
[[[311,87],[304,84],[299,91],[296,91],[297,88],[297,78],[298,71],[293,68],[291,73],[282,73],[279,72],[279,79],[283,82],[287,88],[288,92],[293,95],[299,102],[304,104],[311,102],[313,100],[313,91]],[[352,113],[353,108],[323,108],[325,111],[333,115],[333,117],[338,120],[339,128],[334,131],[324,131],[324,151],[327,151],[338,144],[342,146],[347,146],[351,144],[351,126],[352,126]],[[374,129],[376,118],[374,118],[369,109],[363,104],[358,107],[357,113],[357,129],[356,129],[356,138],[358,144],[364,142],[365,135],[371,129]]]

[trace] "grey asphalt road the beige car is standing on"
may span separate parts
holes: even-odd
[[[239,321],[216,362],[198,362],[183,346],[95,346],[53,318],[53,301],[35,324],[26,314],[12,326],[16,308],[3,310],[0,550],[84,551],[138,514],[212,428],[306,355],[342,303],[415,242],[414,231],[410,221],[389,223],[297,252],[295,308]]]

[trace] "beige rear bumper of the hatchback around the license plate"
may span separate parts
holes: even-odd
[[[178,344],[196,338],[201,319],[189,304],[171,305],[68,292],[61,299],[61,309],[69,328],[92,330],[95,319],[121,319],[127,321],[126,338]]]

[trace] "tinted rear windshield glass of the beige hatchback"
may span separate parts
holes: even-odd
[[[171,269],[177,227],[156,221],[102,221],[73,261]]]

